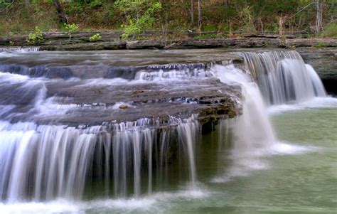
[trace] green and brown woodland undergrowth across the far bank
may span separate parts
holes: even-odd
[[[28,2],[28,7],[26,6]],[[183,31],[191,28],[189,0],[59,0],[70,23],[82,29],[125,30],[123,38],[146,30]],[[161,2],[161,3],[159,3]],[[194,1],[195,20],[198,15]],[[336,0],[321,0],[323,31],[320,36],[336,38]],[[151,10],[154,9],[154,10]],[[277,33],[279,17],[284,31],[311,32],[316,24],[314,0],[210,0],[201,1],[202,31],[260,31]],[[329,24],[332,23],[332,24]],[[53,0],[0,0],[0,35],[26,34],[38,26],[58,31],[58,12]],[[336,26],[336,24],[335,24]],[[169,35],[169,34],[167,34]],[[183,34],[181,34],[183,35]],[[177,36],[181,36],[177,35]],[[174,36],[174,35],[173,35]],[[70,36],[71,38],[71,36]]]

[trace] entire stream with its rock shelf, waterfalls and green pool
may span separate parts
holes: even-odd
[[[337,99],[294,50],[9,51],[0,85],[0,213],[336,213]]]

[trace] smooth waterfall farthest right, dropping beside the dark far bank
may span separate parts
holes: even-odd
[[[245,68],[250,70],[270,105],[326,96],[319,76],[295,50],[237,54],[244,58]]]

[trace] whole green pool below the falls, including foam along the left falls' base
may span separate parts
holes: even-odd
[[[19,212],[337,213],[336,121],[337,107],[274,114],[282,142],[243,162],[230,156],[232,143],[219,149],[218,133],[208,134],[197,159],[198,188],[181,184],[140,198],[20,203]]]

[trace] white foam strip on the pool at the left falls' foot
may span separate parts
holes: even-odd
[[[204,188],[183,188],[137,198],[99,198],[95,200],[58,199],[49,202],[0,203],[1,214],[12,213],[162,213],[181,200],[203,200],[210,196]]]

